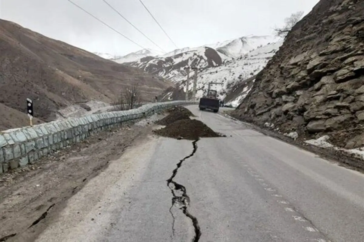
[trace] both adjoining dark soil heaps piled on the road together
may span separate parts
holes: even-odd
[[[194,115],[187,108],[176,107],[169,111],[170,114],[158,122],[158,124],[166,125],[166,127],[155,130],[155,134],[175,139],[188,140],[221,137],[220,134],[211,130],[211,128],[201,121],[190,119],[190,116]]]

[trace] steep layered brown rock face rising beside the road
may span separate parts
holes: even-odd
[[[298,22],[234,116],[364,146],[364,1],[321,0]]]

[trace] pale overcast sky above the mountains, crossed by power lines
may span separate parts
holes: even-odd
[[[72,0],[139,45],[156,49],[102,0]],[[139,0],[107,0],[164,50],[175,49]],[[179,48],[250,34],[272,34],[291,13],[318,0],[143,0]],[[124,55],[141,49],[68,0],[0,0],[0,18],[91,52]]]

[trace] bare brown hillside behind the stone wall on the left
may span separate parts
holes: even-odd
[[[31,98],[37,118],[48,121],[57,110],[76,102],[114,102],[137,81],[145,101],[171,86],[137,68],[0,20],[0,103],[5,106],[24,112],[25,99]],[[15,125],[0,119],[0,126]]]

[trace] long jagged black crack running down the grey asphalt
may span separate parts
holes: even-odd
[[[194,140],[192,142],[193,145],[193,150],[191,152],[190,155],[184,157],[182,160],[179,160],[179,163],[177,163],[177,168],[175,168],[172,172],[172,176],[167,180],[167,186],[169,187],[169,189],[171,189],[171,193],[172,193],[172,205],[169,209],[169,212],[171,213],[171,216],[173,218],[173,223],[172,223],[172,238],[174,236],[174,222],[175,222],[175,217],[173,216],[172,213],[172,208],[173,206],[177,207],[178,209],[182,210],[183,214],[185,214],[186,217],[190,218],[195,230],[195,235],[194,238],[192,239],[193,242],[197,242],[199,241],[200,237],[201,237],[201,229],[200,226],[198,225],[198,220],[196,217],[194,217],[188,210],[188,206],[190,204],[190,197],[187,195],[187,191],[185,186],[183,186],[182,184],[179,184],[177,182],[175,182],[173,179],[174,177],[177,175],[178,169],[181,167],[183,161],[189,159],[190,157],[192,157],[195,152],[197,151],[197,140]],[[173,186],[172,186],[173,185]]]

